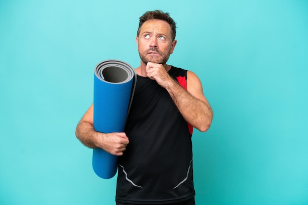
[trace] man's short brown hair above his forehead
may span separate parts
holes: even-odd
[[[175,21],[169,16],[169,13],[164,13],[161,10],[154,10],[154,11],[147,11],[139,18],[139,27],[137,31],[137,36],[139,36],[141,26],[148,20],[158,19],[167,22],[171,27],[171,35],[172,40],[175,39],[176,34],[176,23]]]

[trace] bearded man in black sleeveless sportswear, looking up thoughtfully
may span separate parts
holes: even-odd
[[[169,14],[148,11],[139,20],[141,64],[125,131],[96,132],[91,105],[76,136],[120,156],[117,205],[194,205],[192,128],[209,129],[213,112],[199,78],[166,64],[177,44]]]

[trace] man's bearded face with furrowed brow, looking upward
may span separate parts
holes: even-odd
[[[171,27],[167,22],[154,19],[141,26],[136,43],[139,56],[145,64],[153,62],[164,65],[177,41],[172,40]]]

